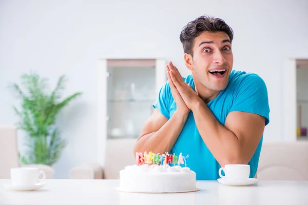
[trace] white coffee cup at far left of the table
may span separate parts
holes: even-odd
[[[39,178],[42,175],[42,178]],[[33,186],[44,182],[46,174],[34,167],[18,167],[11,169],[11,181],[14,186]]]

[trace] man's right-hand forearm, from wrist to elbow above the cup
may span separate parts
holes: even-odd
[[[219,123],[202,100],[198,100],[192,112],[204,143],[222,167],[228,163],[245,163],[237,136]]]

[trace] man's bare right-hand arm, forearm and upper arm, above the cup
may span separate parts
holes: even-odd
[[[247,164],[262,137],[263,116],[234,111],[222,126],[202,100],[192,108],[198,131],[220,166],[229,163]]]

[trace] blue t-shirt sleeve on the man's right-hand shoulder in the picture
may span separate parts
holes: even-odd
[[[255,113],[265,117],[265,125],[269,123],[269,105],[267,88],[263,79],[253,73],[244,76],[235,91],[232,111]]]

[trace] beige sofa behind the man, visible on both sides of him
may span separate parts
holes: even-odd
[[[118,179],[119,172],[135,163],[136,139],[109,139],[105,167],[95,163],[75,167],[72,179]],[[121,153],[119,155],[119,153]],[[308,140],[298,142],[263,142],[257,176],[260,180],[308,180]]]

